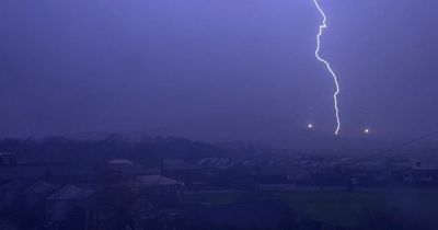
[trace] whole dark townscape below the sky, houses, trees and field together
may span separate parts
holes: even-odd
[[[438,161],[433,152],[399,150],[370,159],[171,137],[129,141],[117,135],[3,139],[0,148],[0,229],[5,230],[434,225],[424,220],[434,220],[427,215],[436,210]],[[414,206],[425,216],[399,203],[406,196],[418,199]],[[414,214],[417,221],[400,220],[400,215]],[[391,221],[393,216],[399,220]]]

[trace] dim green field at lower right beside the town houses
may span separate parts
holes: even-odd
[[[407,218],[438,214],[438,191],[292,191],[263,193],[205,193],[193,195],[211,204],[230,204],[250,199],[281,199],[311,219],[345,227],[359,225],[365,211],[400,211]]]

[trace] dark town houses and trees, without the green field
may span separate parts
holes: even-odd
[[[246,215],[247,222],[257,226],[278,225],[277,229],[288,229],[298,225],[299,219],[300,225],[319,226],[313,229],[331,229],[333,226],[297,216],[293,207],[279,199],[246,196],[221,204],[209,194],[438,187],[438,161],[405,159],[348,164],[351,160],[355,159],[255,153],[196,161],[163,159],[155,166],[129,159],[103,159],[85,166],[68,161],[19,161],[15,153],[3,152],[0,153],[0,227],[204,229],[243,225],[237,217]],[[264,217],[269,217],[266,222],[257,222]],[[254,226],[241,227],[238,229]]]

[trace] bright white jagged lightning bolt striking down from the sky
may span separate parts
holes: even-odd
[[[337,81],[337,76],[336,73],[333,71],[332,67],[330,66],[330,62],[327,60],[325,60],[324,58],[321,58],[320,56],[320,48],[321,48],[321,36],[323,34],[324,28],[327,27],[327,18],[325,16],[324,11],[322,10],[322,8],[320,7],[320,3],[318,2],[318,0],[313,0],[314,4],[318,8],[318,11],[320,11],[323,20],[322,23],[320,25],[320,30],[319,33],[316,35],[316,50],[315,50],[315,57],[319,61],[323,62],[325,65],[325,67],[327,68],[328,72],[332,74],[333,80],[335,82],[336,85],[336,91],[333,94],[333,101],[334,101],[334,108],[335,108],[335,115],[336,115],[336,129],[335,129],[335,135],[339,134],[339,129],[341,129],[341,117],[339,117],[339,105],[338,105],[338,101],[337,101],[337,96],[341,92],[339,90],[339,83]]]

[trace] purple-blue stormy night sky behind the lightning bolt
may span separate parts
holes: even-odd
[[[438,129],[438,1],[321,0],[342,135]],[[1,0],[0,137],[145,130],[287,140],[335,127],[312,0]]]

